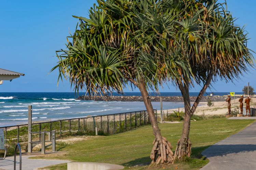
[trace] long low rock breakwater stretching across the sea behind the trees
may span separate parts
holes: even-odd
[[[192,96],[190,97],[190,101],[193,102],[196,100],[197,97]],[[222,102],[226,100],[226,96],[213,96],[211,97],[211,100],[213,102]],[[203,96],[202,102],[207,102],[208,96]],[[95,101],[123,101],[123,102],[131,102],[131,101],[140,101],[142,102],[141,96],[108,96],[108,97],[102,97],[102,96],[95,96],[89,98],[88,96],[80,96],[77,98],[77,100],[95,100]],[[159,102],[160,97],[159,96],[150,96],[150,100],[152,102]],[[164,102],[183,102],[183,98],[181,96],[162,96],[162,101]]]

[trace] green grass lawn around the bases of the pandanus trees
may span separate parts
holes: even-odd
[[[199,169],[208,163],[201,152],[214,143],[235,134],[255,120],[226,120],[225,118],[192,121],[190,140],[191,158],[177,161],[173,165],[148,167],[154,139],[151,125],[110,136],[99,136],[89,140],[77,141],[72,145],[57,143],[57,154],[39,156],[47,159],[66,159],[76,162],[99,162],[123,165],[129,169]],[[180,138],[183,123],[159,124],[161,133],[174,146]],[[38,158],[38,157],[36,157]],[[67,164],[48,167],[52,170],[67,169]]]

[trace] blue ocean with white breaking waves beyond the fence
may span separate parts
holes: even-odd
[[[198,93],[191,93],[196,96]],[[117,96],[119,94],[114,93]],[[125,96],[140,96],[128,92]],[[179,92],[151,93],[152,96],[181,96]],[[223,96],[227,93],[216,93]],[[145,110],[143,102],[82,101],[74,92],[0,92],[0,127],[24,124],[28,121],[28,105],[32,105],[32,121],[79,118],[95,115]],[[160,102],[152,102],[154,109]],[[183,102],[163,102],[163,109],[184,107]]]

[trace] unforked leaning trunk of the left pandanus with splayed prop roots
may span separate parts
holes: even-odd
[[[148,96],[148,92],[146,86],[143,81],[137,84],[139,87],[141,96],[143,98],[143,102],[145,104],[148,116],[150,118],[150,122],[153,128],[153,133],[155,135],[155,139],[153,141],[153,148],[150,154],[150,158],[152,159],[152,163],[173,163],[174,154],[172,152],[171,143],[161,135],[160,129],[157,124],[157,120],[155,118],[154,110],[150,98]]]

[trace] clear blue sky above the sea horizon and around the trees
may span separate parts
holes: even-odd
[[[220,1],[221,2],[221,1]],[[57,87],[57,71],[49,73],[55,66],[55,51],[65,48],[66,36],[74,32],[78,22],[72,15],[88,16],[88,9],[95,0],[1,0],[0,2],[0,68],[25,73],[25,77],[5,81],[0,92],[71,92],[67,81]],[[256,51],[256,22],[254,0],[227,0],[228,10],[237,18],[236,23],[245,26],[249,33],[250,49]],[[254,55],[255,56],[255,55]],[[244,85],[256,88],[256,70],[245,74],[234,83],[218,81],[213,84],[214,92],[240,92]],[[130,89],[125,89],[130,92]],[[134,90],[138,91],[138,89]],[[164,86],[161,92],[179,91]],[[191,88],[200,91],[200,86]],[[210,91],[210,90],[207,90]]]

